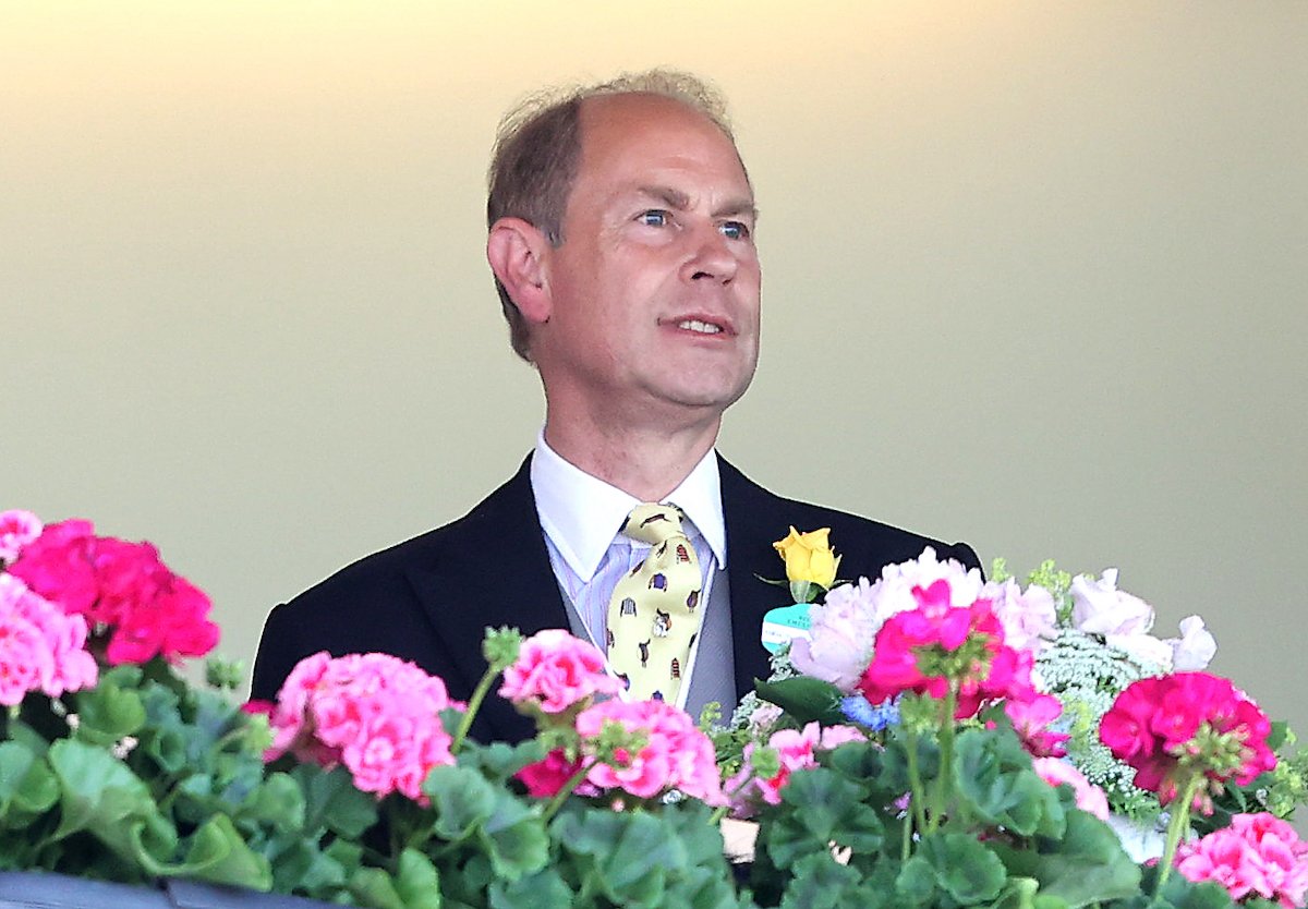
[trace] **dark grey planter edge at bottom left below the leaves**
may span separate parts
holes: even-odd
[[[0,872],[0,909],[339,909],[298,896],[169,879],[154,889],[39,871]]]

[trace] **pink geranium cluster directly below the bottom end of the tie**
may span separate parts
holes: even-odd
[[[708,804],[726,804],[713,743],[685,710],[663,701],[602,701],[577,715],[583,751],[608,723],[642,732],[646,742],[613,764],[596,763],[586,774],[590,783],[642,799],[675,789]]]

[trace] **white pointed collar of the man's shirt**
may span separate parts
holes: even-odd
[[[536,497],[540,527],[559,555],[583,581],[590,581],[608,552],[630,510],[640,500],[564,460],[536,437],[531,458],[531,492]],[[709,450],[698,464],[663,501],[680,507],[693,528],[713,549],[718,568],[727,566],[727,531],[722,517],[722,485],[718,458]]]

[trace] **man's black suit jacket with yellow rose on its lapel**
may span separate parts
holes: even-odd
[[[445,679],[466,700],[485,671],[485,628],[523,634],[568,628],[549,552],[536,518],[530,456],[511,480],[467,515],[362,558],[268,616],[259,642],[251,696],[272,700],[292,667],[313,653],[390,653]],[[967,544],[944,545],[853,514],[774,496],[719,459],[727,532],[736,696],[768,675],[759,642],[763,615],[786,594],[759,578],[785,577],[772,548],[793,524],[831,527],[842,555],[841,575],[875,578],[884,565],[908,561],[933,545],[940,558],[977,565]],[[731,705],[723,705],[730,710]],[[518,740],[530,721],[506,702],[487,698],[473,736]]]

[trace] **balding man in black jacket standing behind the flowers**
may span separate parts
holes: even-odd
[[[462,519],[364,558],[268,617],[252,695],[318,650],[379,650],[466,698],[485,626],[604,641],[608,594],[647,552],[617,534],[636,504],[675,502],[704,572],[680,701],[727,709],[766,675],[760,628],[785,594],[772,548],[831,527],[841,574],[875,577],[939,543],[766,492],[714,451],[759,352],[753,188],[721,99],[692,77],[623,77],[528,102],[496,143],[487,256],[514,349],[545,390],[518,473]],[[729,557],[730,553],[730,557]],[[518,739],[494,698],[473,730]]]

